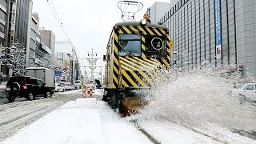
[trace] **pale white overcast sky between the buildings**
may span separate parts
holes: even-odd
[[[33,12],[38,12],[39,26],[52,30],[56,40],[66,40],[57,18],[50,9],[54,4],[58,17],[65,27],[70,41],[73,42],[79,58],[86,58],[87,52],[93,48],[98,52],[98,58],[106,53],[106,43],[110,37],[110,31],[115,23],[122,22],[121,11],[118,9],[118,0],[33,0]],[[136,20],[140,20],[146,12],[146,8],[154,2],[170,2],[170,0],[138,0],[144,8],[137,14]],[[85,60],[80,59],[82,66]],[[103,62],[98,62],[103,66]]]

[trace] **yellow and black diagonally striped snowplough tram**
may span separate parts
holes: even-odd
[[[150,89],[154,70],[170,68],[171,48],[166,26],[142,21],[115,24],[104,57],[106,87],[102,100],[118,107],[120,113],[138,109],[140,100],[134,91]]]

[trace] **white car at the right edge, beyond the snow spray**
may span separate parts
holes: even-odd
[[[256,83],[246,83],[241,89],[232,90],[232,95],[238,95],[242,100],[256,102]]]

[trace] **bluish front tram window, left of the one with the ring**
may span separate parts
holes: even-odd
[[[142,53],[142,43],[140,34],[119,34],[119,55],[140,56]]]

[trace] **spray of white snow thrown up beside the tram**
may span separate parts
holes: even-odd
[[[256,107],[231,94],[238,75],[213,70],[190,70],[177,75],[158,73],[148,104],[133,118],[176,122],[182,126],[222,126],[255,130]],[[169,77],[169,78],[168,78]]]

